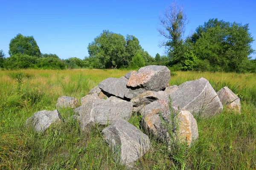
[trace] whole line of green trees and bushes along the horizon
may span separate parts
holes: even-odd
[[[180,15],[180,16],[179,16]],[[167,40],[166,56],[152,57],[133,35],[116,34],[104,30],[87,46],[89,57],[60,59],[56,54],[41,54],[32,36],[17,34],[9,44],[10,57],[0,51],[0,67],[6,69],[42,68],[140,68],[145,65],[166,65],[173,71],[236,71],[256,72],[256,59],[250,55],[254,41],[248,24],[210,19],[186,39],[179,28],[183,13],[175,15],[166,32],[159,30]],[[169,17],[166,17],[167,20]],[[167,23],[166,20],[162,20]],[[162,31],[162,32],[161,32]]]

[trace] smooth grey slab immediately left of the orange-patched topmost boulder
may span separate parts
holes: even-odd
[[[110,77],[100,82],[99,88],[109,94],[124,99],[125,93],[129,91],[128,88],[126,88],[127,81],[128,80]]]

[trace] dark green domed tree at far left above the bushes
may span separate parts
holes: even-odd
[[[9,44],[9,55],[26,54],[29,56],[41,57],[41,52],[33,36],[17,34]]]

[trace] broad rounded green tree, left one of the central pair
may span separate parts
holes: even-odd
[[[125,37],[104,30],[87,49],[91,58],[99,59],[101,68],[113,68],[116,65],[127,65],[125,59]]]

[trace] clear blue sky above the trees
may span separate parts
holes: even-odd
[[[159,48],[159,14],[169,0],[2,0],[0,49],[9,57],[9,42],[18,33],[34,36],[42,53],[57,54],[61,59],[88,56],[87,46],[109,30],[137,37],[151,56],[163,55]],[[256,39],[255,0],[180,0],[189,18],[185,36],[211,18],[249,23]],[[256,49],[256,42],[252,44]],[[252,55],[253,58],[256,54]]]

